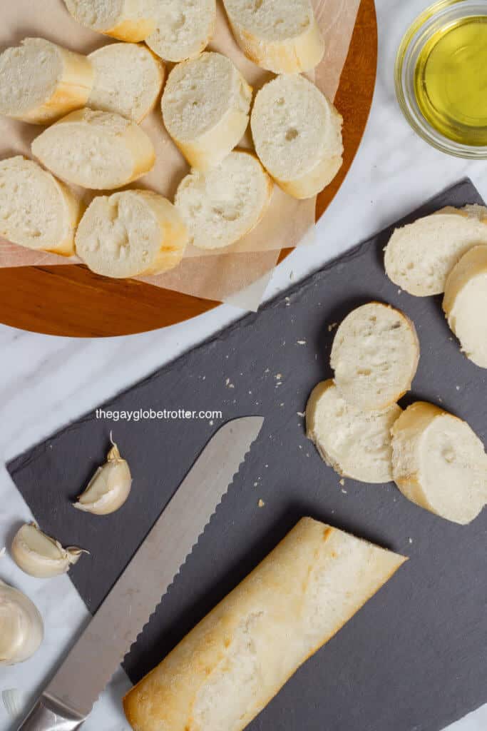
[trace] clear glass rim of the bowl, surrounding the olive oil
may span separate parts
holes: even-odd
[[[487,0],[439,0],[416,18],[404,35],[396,57],[396,96],[415,132],[442,152],[467,159],[487,159],[487,145],[465,145],[445,137],[426,120],[415,96],[415,69],[421,51],[441,29],[469,17],[487,17]]]

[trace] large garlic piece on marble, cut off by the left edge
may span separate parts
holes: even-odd
[[[0,665],[28,659],[39,648],[44,624],[25,594],[0,580]]]

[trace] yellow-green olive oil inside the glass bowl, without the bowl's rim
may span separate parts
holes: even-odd
[[[436,31],[418,56],[414,88],[438,132],[464,145],[487,145],[487,16]]]

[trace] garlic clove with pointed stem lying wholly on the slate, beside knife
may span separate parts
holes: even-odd
[[[111,437],[111,435],[110,435]],[[132,477],[128,463],[120,457],[115,442],[108,452],[107,461],[99,467],[74,507],[93,515],[115,512],[129,497]]]

